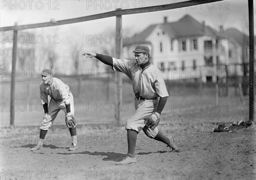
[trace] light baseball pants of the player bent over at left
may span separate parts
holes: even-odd
[[[69,96],[71,97],[70,111],[72,115],[75,115],[74,98],[71,92],[69,93]],[[42,121],[40,129],[48,130],[52,126],[52,123],[54,122],[60,110],[64,111],[65,116],[67,116],[67,109],[64,101],[56,101],[55,99],[51,98],[50,103],[48,105],[48,118]]]

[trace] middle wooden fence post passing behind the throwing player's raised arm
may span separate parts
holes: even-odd
[[[116,42],[116,58],[118,59],[121,58],[121,49],[122,49],[121,36],[122,36],[122,15],[117,15],[115,42]],[[117,102],[117,106],[115,108],[115,121],[117,122],[117,124],[120,124],[120,114],[121,114],[121,104],[122,104],[122,77],[119,72],[116,72],[115,82],[116,82],[115,96],[116,96],[116,102]]]

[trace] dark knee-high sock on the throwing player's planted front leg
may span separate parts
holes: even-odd
[[[128,153],[127,155],[131,158],[135,157],[135,147],[137,142],[137,132],[129,129],[127,130],[127,140],[128,140]]]

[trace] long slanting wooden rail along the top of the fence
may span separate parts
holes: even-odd
[[[6,27],[0,27],[0,30],[1,31],[12,31],[12,30],[18,31],[18,30],[30,29],[30,28],[43,28],[43,27],[49,27],[49,26],[55,26],[55,25],[64,25],[64,24],[79,23],[79,22],[90,21],[90,20],[97,20],[97,19],[113,17],[113,16],[122,16],[127,14],[164,11],[169,9],[183,8],[188,6],[212,3],[217,1],[222,1],[222,0],[189,0],[189,1],[179,2],[179,3],[171,3],[166,5],[150,6],[150,7],[144,7],[144,8],[116,9],[115,11],[105,12],[101,14],[77,17],[77,18],[68,19],[68,20],[59,20],[56,23],[47,22],[47,23],[37,23],[37,24],[28,24],[28,25],[6,26]]]

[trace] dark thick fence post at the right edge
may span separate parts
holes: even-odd
[[[249,120],[254,121],[254,20],[253,0],[248,0],[249,8],[249,49],[250,49],[250,75],[249,75]]]

